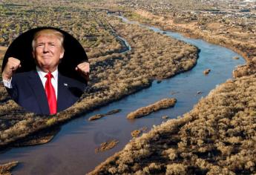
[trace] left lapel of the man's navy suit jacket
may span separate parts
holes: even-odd
[[[43,114],[50,113],[45,88],[42,85],[42,81],[36,70],[31,71],[29,77],[30,79],[28,79],[28,82],[36,97],[36,102],[38,103],[40,110]]]

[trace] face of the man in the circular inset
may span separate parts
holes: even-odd
[[[53,72],[62,59],[64,50],[57,36],[41,35],[35,41],[33,58],[45,72]]]

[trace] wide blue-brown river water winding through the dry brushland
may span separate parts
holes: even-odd
[[[143,25],[142,27],[148,26]],[[156,27],[148,27],[148,29],[163,33],[163,30]],[[171,119],[188,112],[216,85],[232,78],[232,70],[236,65],[245,63],[240,55],[225,47],[209,44],[201,39],[188,39],[179,33],[165,32],[167,36],[200,48],[197,65],[192,70],[180,73],[171,79],[165,79],[161,83],[154,81],[151,87],[118,102],[112,102],[78,119],[73,119],[63,125],[54,139],[45,145],[12,148],[1,153],[0,164],[19,161],[19,165],[12,171],[13,174],[85,174],[93,170],[108,156],[120,151],[131,139],[131,131],[142,127],[147,127],[147,131],[149,131],[153,125],[160,125],[165,121],[162,116],[168,116]],[[238,56],[240,59],[232,59],[234,56]],[[211,69],[211,72],[205,76],[203,70],[208,68]],[[202,93],[197,94],[197,91]],[[160,110],[134,121],[126,119],[127,114],[132,110],[167,97],[177,99],[174,108]],[[90,116],[107,113],[114,109],[122,109],[122,111],[88,122]],[[94,150],[99,147],[100,143],[110,139],[119,140],[118,145],[110,151],[95,153]]]

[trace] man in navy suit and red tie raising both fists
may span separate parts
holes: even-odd
[[[64,56],[64,36],[54,29],[39,30],[33,37],[32,55],[36,70],[15,73],[21,67],[19,59],[10,57],[2,72],[4,86],[23,108],[38,114],[55,114],[69,108],[85,90],[85,83],[62,76],[58,65]],[[88,80],[88,62],[76,70]]]

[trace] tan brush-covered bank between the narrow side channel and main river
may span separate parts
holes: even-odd
[[[107,17],[106,17],[107,18]],[[46,128],[62,125],[93,109],[128,96],[151,85],[153,79],[166,79],[190,70],[197,62],[197,48],[108,17],[116,33],[125,38],[132,50],[90,59],[91,75],[87,93],[56,116],[37,116],[19,108],[1,87],[0,147],[10,147],[27,136]]]

